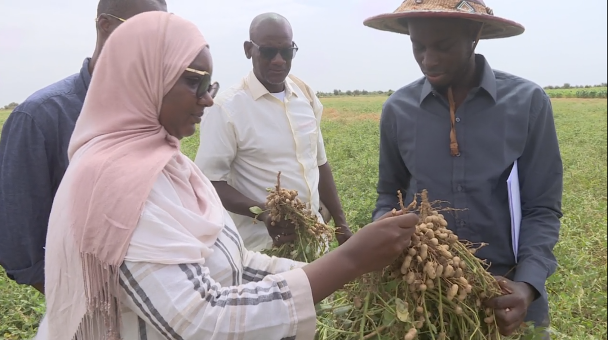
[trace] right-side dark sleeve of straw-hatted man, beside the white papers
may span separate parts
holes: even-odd
[[[528,141],[518,161],[522,222],[514,280],[530,284],[536,298],[544,296],[545,282],[557,267],[553,247],[562,217],[564,169],[549,97],[531,108]]]

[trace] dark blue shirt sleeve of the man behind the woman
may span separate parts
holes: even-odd
[[[0,135],[0,265],[17,283],[44,283],[52,201],[43,133],[29,114],[13,111]]]

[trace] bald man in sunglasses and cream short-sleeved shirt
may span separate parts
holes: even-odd
[[[282,186],[297,190],[320,221],[323,201],[336,224],[339,244],[352,235],[325,154],[323,105],[307,85],[289,75],[297,49],[283,16],[264,13],[254,18],[244,43],[252,71],[218,94],[201,122],[195,162],[213,182],[252,251],[294,237],[292,224],[271,226],[267,212],[256,217],[249,210],[266,209],[266,189],[274,186],[278,172]]]

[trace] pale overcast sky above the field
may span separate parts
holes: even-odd
[[[243,41],[255,15],[291,21],[300,47],[292,73],[316,91],[397,89],[418,77],[409,37],[362,22],[392,12],[390,0],[167,0],[210,42],[213,77],[223,88],[247,74]],[[542,86],[592,85],[607,79],[607,1],[487,0],[497,16],[526,27],[523,35],[481,41],[493,68]],[[80,71],[95,46],[96,0],[0,0],[0,106]]]

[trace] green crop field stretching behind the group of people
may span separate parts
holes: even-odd
[[[370,221],[378,166],[378,118],[383,97],[322,99],[328,158],[351,226]],[[553,99],[564,158],[564,218],[548,283],[554,339],[607,339],[607,101]],[[0,124],[8,112],[0,111]],[[198,137],[183,143],[188,156]],[[1,237],[1,236],[0,236]],[[33,290],[0,272],[0,339],[27,339],[44,310]]]

